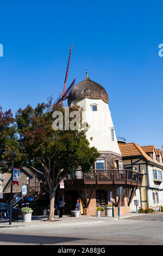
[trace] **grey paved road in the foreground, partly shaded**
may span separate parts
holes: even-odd
[[[1,228],[0,245],[163,245],[162,221],[135,218],[80,226]]]

